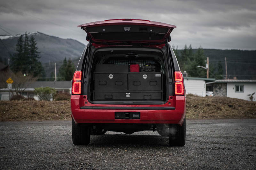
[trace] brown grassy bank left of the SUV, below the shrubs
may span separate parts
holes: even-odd
[[[0,101],[0,121],[71,119],[70,101]]]

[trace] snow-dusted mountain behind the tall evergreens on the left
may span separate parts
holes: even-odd
[[[40,32],[28,33],[30,37],[33,35],[36,39],[38,51],[40,51],[41,58],[39,61],[42,63],[53,63],[63,61],[65,57],[76,59],[79,58],[85,47],[84,44],[73,40],[73,39],[63,39],[51,35],[46,35]],[[15,52],[18,35],[0,35],[2,43],[0,43],[1,57],[4,58],[10,56],[9,53],[13,54]],[[7,48],[7,49],[6,49]]]

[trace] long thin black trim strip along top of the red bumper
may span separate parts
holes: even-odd
[[[99,109],[99,110],[175,110],[175,107],[90,107],[83,106],[80,109]]]

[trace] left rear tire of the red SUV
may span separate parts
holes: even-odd
[[[90,143],[91,129],[90,127],[76,125],[72,119],[72,141],[74,145],[88,145]]]

